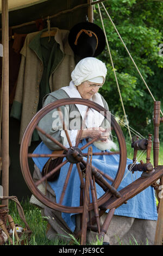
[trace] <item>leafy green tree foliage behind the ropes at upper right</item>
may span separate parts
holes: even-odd
[[[155,100],[162,101],[163,57],[159,56],[159,45],[163,43],[163,3],[112,0],[105,1],[104,5]],[[129,125],[147,137],[147,133],[153,133],[153,99],[102,5],[100,8]],[[97,6],[94,17],[95,23],[102,27]],[[108,102],[111,112],[124,119],[107,47],[98,58],[105,62],[108,69],[106,82],[100,93]],[[163,138],[163,132],[160,135]]]

